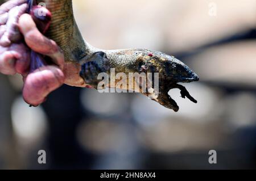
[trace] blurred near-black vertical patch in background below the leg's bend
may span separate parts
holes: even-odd
[[[86,117],[80,103],[80,88],[62,86],[43,104],[49,120],[47,140],[49,169],[90,169],[93,155],[77,142],[76,130]]]

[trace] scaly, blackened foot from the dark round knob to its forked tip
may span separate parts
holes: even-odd
[[[199,81],[199,77],[177,58],[145,49],[108,50],[106,52],[90,54],[80,62],[82,64],[80,76],[93,87],[97,87],[99,73],[109,72],[110,68],[115,68],[118,73],[125,73],[127,77],[130,73],[138,73],[139,77],[135,78],[135,84],[140,87],[139,92],[175,112],[179,110],[179,106],[168,94],[171,89],[180,89],[182,98],[187,97],[197,103],[185,87],[177,83]],[[147,77],[149,73],[154,77],[151,79]],[[142,91],[143,85],[146,85],[147,91]]]

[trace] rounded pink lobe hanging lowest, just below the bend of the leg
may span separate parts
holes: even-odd
[[[64,74],[56,66],[44,66],[24,78],[23,98],[32,106],[38,106],[47,95],[64,83]]]

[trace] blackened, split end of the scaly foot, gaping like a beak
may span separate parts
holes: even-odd
[[[151,96],[148,92],[146,93],[152,100],[177,112],[179,111],[179,106],[177,106],[177,103],[171,98],[168,92],[171,89],[180,89],[182,98],[187,97],[192,102],[197,103],[197,101],[189,95],[189,92],[184,86],[177,84],[179,82],[189,83],[199,81],[198,75],[187,65],[177,60],[174,56],[169,56],[168,54],[158,51],[137,49],[134,50],[134,53],[137,56],[137,58],[135,58],[137,65],[135,68],[137,68],[137,71],[159,73],[158,92],[157,90],[156,92],[154,91],[154,94],[157,93],[157,96]],[[152,83],[152,85],[154,85],[154,83]]]

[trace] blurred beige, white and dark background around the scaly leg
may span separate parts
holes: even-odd
[[[95,47],[154,49],[185,62],[200,77],[185,85],[199,103],[171,90],[175,113],[140,94],[63,86],[30,108],[21,78],[0,75],[0,169],[256,169],[255,0],[73,5]]]

